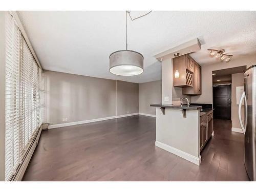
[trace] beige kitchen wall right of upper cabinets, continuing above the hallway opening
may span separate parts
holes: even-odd
[[[250,67],[256,62],[256,54],[241,56],[230,62],[218,62],[208,66],[202,66],[202,95],[192,96],[193,103],[212,103],[212,71],[239,66]]]

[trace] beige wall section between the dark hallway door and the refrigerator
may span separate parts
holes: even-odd
[[[236,97],[236,87],[244,86],[244,74],[235,73],[232,74],[232,84],[231,84],[231,120],[232,127],[241,129],[238,117],[238,104]],[[244,108],[242,107],[242,117],[244,117]]]

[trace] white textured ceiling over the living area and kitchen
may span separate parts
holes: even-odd
[[[161,65],[153,56],[197,37],[202,47],[191,56],[200,65],[217,62],[208,48],[224,48],[233,59],[256,53],[255,11],[153,11],[128,20],[128,48],[143,54],[144,73],[121,77],[109,72],[109,55],[125,49],[125,11],[18,14],[42,68],[52,71],[139,83],[159,80]]]

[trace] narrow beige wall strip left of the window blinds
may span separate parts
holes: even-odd
[[[0,181],[5,180],[5,11],[0,11]]]

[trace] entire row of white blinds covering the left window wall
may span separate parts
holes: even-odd
[[[6,181],[22,163],[41,125],[40,77],[41,69],[13,16],[6,12]]]

